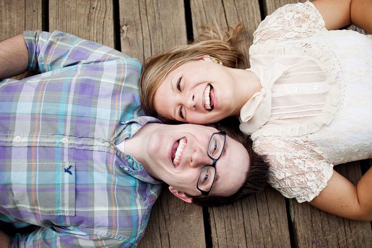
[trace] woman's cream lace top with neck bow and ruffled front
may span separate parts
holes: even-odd
[[[253,36],[248,70],[262,90],[240,129],[267,154],[271,186],[311,201],[334,164],[372,157],[372,36],[327,31],[310,2],[276,10]]]

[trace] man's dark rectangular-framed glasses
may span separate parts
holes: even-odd
[[[226,132],[213,133],[208,144],[208,156],[213,159],[213,164],[203,167],[200,172],[197,188],[203,195],[208,196],[216,177],[216,162],[220,159],[225,147]]]

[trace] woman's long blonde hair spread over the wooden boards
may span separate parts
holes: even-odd
[[[243,23],[236,24],[227,31],[204,24],[205,31],[189,45],[174,47],[168,51],[147,58],[143,65],[139,83],[139,94],[143,108],[154,117],[165,123],[168,118],[158,115],[154,108],[154,95],[165,77],[178,66],[189,61],[199,60],[206,55],[215,57],[224,66],[238,68],[243,58],[242,52],[236,47],[240,34],[244,30]]]

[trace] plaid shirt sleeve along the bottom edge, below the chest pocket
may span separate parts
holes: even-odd
[[[39,227],[30,234],[12,236],[9,247],[136,247],[136,245],[112,237],[61,227]]]

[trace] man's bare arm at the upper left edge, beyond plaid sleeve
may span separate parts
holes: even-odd
[[[0,79],[25,72],[28,61],[29,53],[23,34],[0,42]]]

